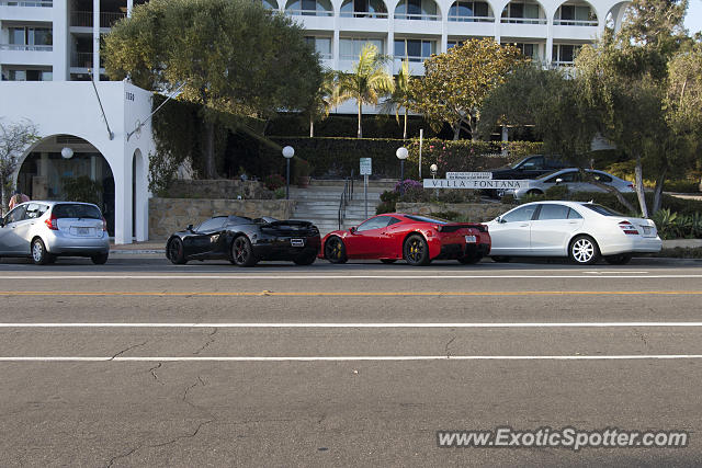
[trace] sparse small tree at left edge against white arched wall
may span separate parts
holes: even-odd
[[[36,126],[29,122],[3,124],[0,122],[0,192],[2,214],[8,206],[8,193],[12,190],[12,174],[18,170],[18,162],[27,147],[37,141]]]

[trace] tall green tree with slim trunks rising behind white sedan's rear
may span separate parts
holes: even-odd
[[[653,212],[673,161],[686,151],[679,129],[670,126],[666,104],[670,60],[690,43],[682,20],[687,0],[634,0],[618,32],[605,31],[576,58],[582,91],[596,110],[602,135],[635,161],[641,213],[648,217],[644,164],[657,172]]]

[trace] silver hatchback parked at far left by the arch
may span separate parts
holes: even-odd
[[[0,256],[30,256],[37,265],[57,256],[107,261],[110,237],[100,208],[78,202],[25,202],[0,218]]]

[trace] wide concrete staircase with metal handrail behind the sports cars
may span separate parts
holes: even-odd
[[[381,194],[393,190],[396,181],[372,181],[369,183],[369,217],[375,215],[381,203]],[[307,189],[291,187],[291,199],[297,201],[293,219],[314,222],[324,237],[339,229],[339,202],[344,181],[313,181]],[[354,181],[353,199],[347,205],[347,216],[342,229],[358,226],[365,220],[363,181]]]

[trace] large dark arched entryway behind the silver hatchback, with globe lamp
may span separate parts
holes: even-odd
[[[89,141],[72,135],[43,138],[22,161],[16,186],[32,199],[94,203],[114,236],[114,175],[107,160]]]

